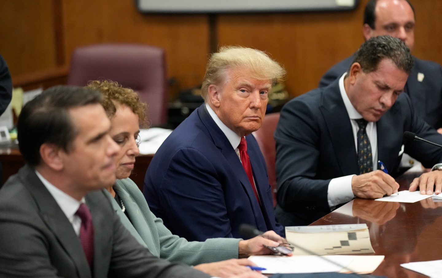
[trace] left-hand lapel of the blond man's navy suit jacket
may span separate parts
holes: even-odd
[[[255,216],[256,227],[258,229],[267,230],[267,227],[263,226],[263,224],[265,224],[265,221],[263,218],[263,212],[261,211],[261,207],[259,207],[259,203],[256,200],[255,193],[253,192],[253,189],[251,188],[250,181],[248,180],[247,174],[244,171],[243,165],[241,164],[240,158],[238,158],[236,151],[232,148],[232,145],[230,144],[230,142],[227,139],[227,137],[225,136],[225,134],[221,131],[221,129],[217,126],[215,121],[212,119],[212,117],[210,116],[210,114],[207,111],[206,106],[204,104],[199,107],[198,114],[200,116],[202,123],[207,128],[207,131],[209,132],[209,135],[212,138],[213,143],[215,144],[215,146],[218,149],[220,149],[221,154],[225,157],[225,159],[229,163],[229,165],[232,169],[233,175],[238,177],[244,191],[247,193],[251,209],[253,210],[253,214]],[[249,154],[249,157],[250,157],[250,154]],[[252,160],[252,158],[250,160]],[[253,164],[254,163],[251,162],[251,164],[252,164],[252,171],[253,171]],[[256,180],[256,178],[255,178],[255,180]],[[262,196],[262,195],[260,195],[260,196]]]

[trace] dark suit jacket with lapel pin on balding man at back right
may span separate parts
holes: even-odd
[[[328,86],[348,71],[354,54],[331,67],[321,78],[319,87]],[[442,128],[442,67],[441,65],[413,57],[414,66],[408,75],[404,91],[410,96],[415,113],[433,128]],[[418,74],[423,74],[422,82]]]

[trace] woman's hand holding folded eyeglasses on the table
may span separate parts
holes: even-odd
[[[238,244],[238,257],[245,258],[250,255],[272,254],[271,250],[263,245],[276,247],[279,244],[287,244],[287,240],[278,236],[274,231],[267,231],[249,240],[241,240]]]

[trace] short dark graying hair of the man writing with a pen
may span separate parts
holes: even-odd
[[[400,39],[389,35],[370,38],[364,42],[354,55],[351,64],[359,63],[362,71],[369,73],[376,71],[384,59],[391,60],[398,69],[407,74],[412,71],[413,58],[410,49]]]

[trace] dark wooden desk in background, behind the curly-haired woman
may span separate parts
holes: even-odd
[[[135,161],[132,174],[130,175],[130,178],[137,184],[141,191],[143,191],[144,176],[152,158],[153,154],[139,155]],[[0,146],[0,162],[3,168],[2,184],[8,180],[8,177],[17,173],[19,169],[25,165],[25,161],[17,145],[8,147]]]

